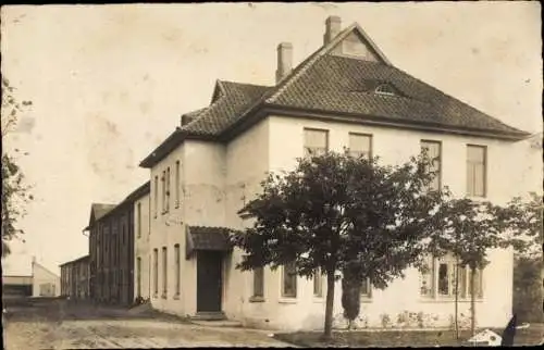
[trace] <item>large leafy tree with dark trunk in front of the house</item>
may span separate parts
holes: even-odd
[[[342,272],[385,288],[407,266],[422,266],[423,240],[437,229],[443,200],[443,192],[426,190],[434,176],[429,164],[420,155],[382,166],[378,158],[346,152],[298,159],[294,171],[271,174],[240,211],[256,222],[233,237],[246,252],[237,268],[294,263],[299,276],[326,275],[323,337],[331,339]]]

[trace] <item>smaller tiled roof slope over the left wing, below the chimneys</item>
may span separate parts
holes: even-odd
[[[267,86],[222,80],[218,82],[218,86],[221,96],[210,107],[187,113],[186,115],[195,117],[195,120],[183,126],[182,130],[193,135],[220,135],[251,103],[271,89]]]

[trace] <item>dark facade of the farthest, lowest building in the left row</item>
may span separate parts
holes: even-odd
[[[61,267],[61,296],[71,299],[90,298],[90,258],[85,255]]]

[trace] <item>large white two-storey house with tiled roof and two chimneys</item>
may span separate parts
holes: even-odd
[[[230,229],[251,225],[237,212],[260,191],[268,172],[290,170],[296,158],[326,150],[379,154],[398,164],[429,149],[437,157],[435,186],[459,197],[504,201],[518,176],[512,143],[527,133],[433,88],[394,66],[364,30],[326,20],[323,46],[293,66],[293,47],[277,47],[275,86],[218,80],[211,103],[145,158],[150,171],[150,298],[165,312],[221,317],[247,326],[319,329],[324,278],[290,274],[290,266],[242,273],[243,254]],[[144,208],[144,207],[143,207]],[[511,316],[512,252],[491,252],[477,277],[477,324],[504,327]],[[143,262],[144,263],[144,262]],[[145,264],[145,263],[144,263]],[[454,261],[429,258],[431,272],[407,272],[385,290],[366,282],[367,327],[449,327]],[[461,271],[459,317],[469,315],[470,288]],[[341,285],[334,313],[342,313]]]

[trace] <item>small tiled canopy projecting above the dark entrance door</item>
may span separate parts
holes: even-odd
[[[197,250],[227,251],[230,229],[225,227],[187,226],[185,235],[185,257],[188,259]]]

